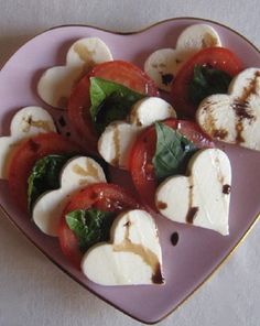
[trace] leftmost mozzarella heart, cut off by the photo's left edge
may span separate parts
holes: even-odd
[[[0,178],[7,178],[7,166],[13,148],[28,137],[56,131],[53,118],[41,107],[25,107],[12,118],[10,137],[0,138]]]

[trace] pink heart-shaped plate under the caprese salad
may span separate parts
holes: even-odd
[[[234,51],[246,66],[260,66],[260,53],[250,42],[226,26],[197,19],[169,20],[142,32],[124,35],[88,26],[55,28],[23,45],[2,68],[0,134],[9,134],[11,117],[19,108],[30,105],[48,108],[35,91],[39,76],[47,67],[64,65],[66,52],[77,39],[98,36],[110,47],[115,59],[130,61],[143,67],[151,52],[160,47],[174,47],[181,31],[199,22],[213,25],[224,46]],[[48,109],[58,124],[61,111]],[[67,132],[66,128],[64,133]],[[75,281],[133,318],[155,323],[203,284],[236,248],[260,213],[260,153],[238,146],[225,146],[225,151],[232,165],[230,236],[223,237],[210,230],[177,225],[156,217],[165,285],[106,287],[94,284],[66,261],[56,239],[43,235],[29,216],[21,214],[10,198],[7,182],[0,182],[0,205],[14,225]],[[180,236],[175,247],[170,240],[173,232]]]

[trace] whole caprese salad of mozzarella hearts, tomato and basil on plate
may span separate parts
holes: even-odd
[[[144,70],[97,37],[78,40],[37,91],[66,110],[84,148],[43,108],[23,108],[0,138],[0,177],[90,281],[164,284],[153,213],[229,233],[231,166],[214,140],[260,150],[260,68],[245,68],[212,26],[188,26]],[[107,182],[100,162],[127,171],[137,196]]]

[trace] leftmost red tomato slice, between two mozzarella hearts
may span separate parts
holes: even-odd
[[[80,153],[83,150],[55,132],[22,141],[13,151],[8,169],[9,187],[14,203],[28,210],[28,178],[33,165],[48,154]]]

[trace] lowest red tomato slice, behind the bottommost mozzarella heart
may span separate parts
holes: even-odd
[[[91,184],[75,194],[66,205],[61,218],[58,239],[63,253],[77,268],[80,265],[83,253],[79,251],[74,232],[66,224],[65,216],[73,210],[89,208],[119,214],[140,208],[140,205],[126,189],[115,184]]]

